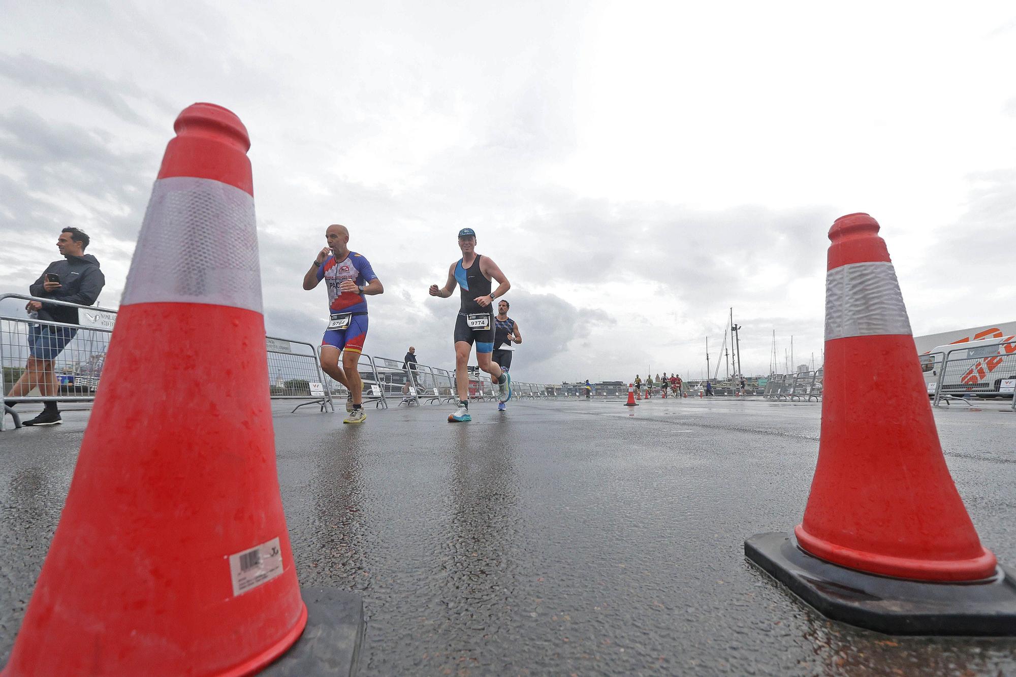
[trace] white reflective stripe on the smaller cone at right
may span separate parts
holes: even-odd
[[[910,320],[892,263],[849,263],[826,273],[826,341],[900,333],[911,333]]]

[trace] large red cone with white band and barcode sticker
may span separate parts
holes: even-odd
[[[275,469],[250,140],[211,104],[175,129],[4,677],[252,674],[308,622]]]

